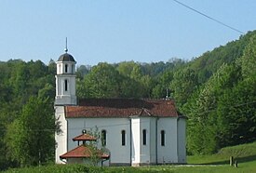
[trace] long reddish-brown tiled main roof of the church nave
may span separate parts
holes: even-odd
[[[178,117],[173,100],[87,99],[65,107],[67,118],[76,117]]]

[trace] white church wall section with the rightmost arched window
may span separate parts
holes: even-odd
[[[165,146],[161,146],[161,130],[165,130]],[[177,118],[161,117],[157,121],[157,163],[178,163]]]

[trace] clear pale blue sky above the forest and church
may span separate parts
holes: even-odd
[[[179,0],[244,33],[255,0]],[[0,60],[58,60],[68,37],[78,64],[190,60],[237,33],[173,0],[1,0]]]

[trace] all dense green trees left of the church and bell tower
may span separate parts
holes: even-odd
[[[0,170],[38,164],[38,150],[42,164],[52,158],[55,69],[40,60],[0,62]]]

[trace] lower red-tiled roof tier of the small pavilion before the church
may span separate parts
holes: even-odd
[[[76,147],[75,149],[64,153],[60,156],[61,159],[66,159],[66,158],[88,158],[91,156],[91,152],[88,149],[87,146],[85,145],[80,145],[78,147]],[[101,151],[99,151],[99,156],[101,158],[109,158],[109,154],[106,153],[102,153]]]

